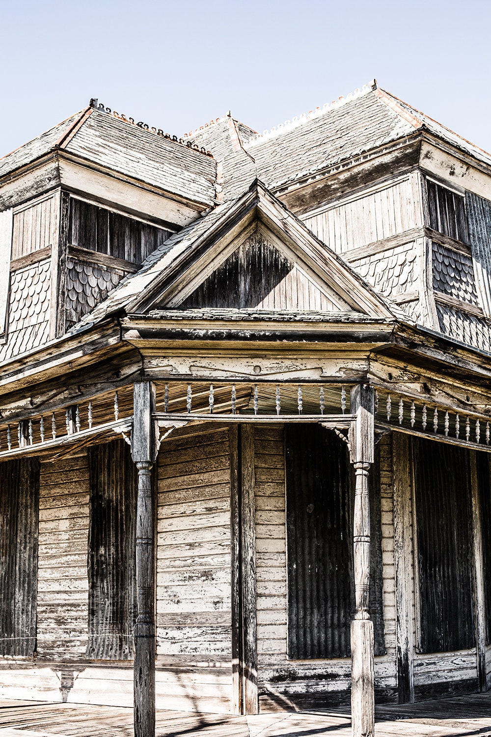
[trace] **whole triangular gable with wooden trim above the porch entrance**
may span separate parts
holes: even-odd
[[[229,268],[236,270],[236,282],[227,285]],[[222,288],[222,296],[211,296],[216,287]],[[199,304],[202,299],[208,304]],[[262,308],[267,302],[268,309],[393,317],[384,298],[258,181],[126,309],[142,313],[208,307],[212,299],[213,307],[230,307],[232,301]]]

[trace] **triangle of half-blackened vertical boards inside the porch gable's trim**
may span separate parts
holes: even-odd
[[[216,268],[181,307],[336,309],[319,287],[258,231]]]

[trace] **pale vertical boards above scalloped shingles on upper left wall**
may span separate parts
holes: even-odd
[[[32,254],[47,245],[53,245],[56,234],[57,197],[50,197],[32,206],[14,212],[12,258]]]

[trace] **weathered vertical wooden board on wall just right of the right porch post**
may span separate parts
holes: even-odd
[[[395,619],[400,704],[414,701],[414,638],[412,629],[411,514],[412,492],[409,452],[411,440],[392,433],[394,483]],[[414,529],[414,526],[413,526]]]

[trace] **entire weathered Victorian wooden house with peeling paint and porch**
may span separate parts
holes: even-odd
[[[489,688],[490,248],[491,156],[375,81],[1,159],[0,693]]]

